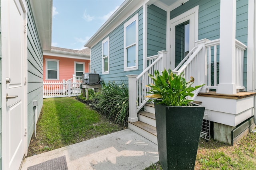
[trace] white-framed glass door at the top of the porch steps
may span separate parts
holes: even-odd
[[[173,70],[198,40],[198,6],[170,20],[170,63]]]

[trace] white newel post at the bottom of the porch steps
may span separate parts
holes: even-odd
[[[129,116],[128,121],[136,122],[138,121],[137,117],[137,82],[138,75],[127,75],[128,77],[128,89],[129,89]]]

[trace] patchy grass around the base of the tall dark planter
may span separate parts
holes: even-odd
[[[162,170],[160,163],[145,170]],[[194,170],[256,170],[256,133],[249,133],[234,146],[200,139]]]

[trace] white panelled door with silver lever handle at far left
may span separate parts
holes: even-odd
[[[18,170],[27,149],[25,134],[27,101],[24,100],[27,53],[26,4],[25,1],[19,0],[1,2],[2,169]]]

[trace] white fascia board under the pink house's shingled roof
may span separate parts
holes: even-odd
[[[74,53],[63,52],[63,51],[43,51],[43,55],[70,58],[70,59],[90,60],[90,55],[74,54]]]

